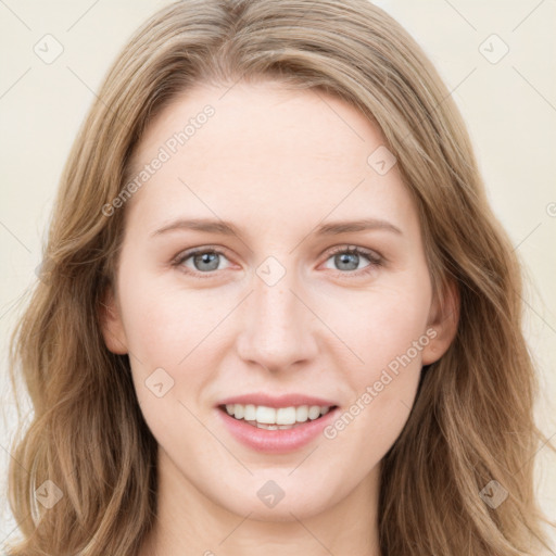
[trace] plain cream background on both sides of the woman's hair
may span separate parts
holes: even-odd
[[[15,303],[36,282],[51,203],[77,128],[129,35],[169,2],[0,2],[0,547],[15,522],[3,505],[13,403],[7,339]],[[468,123],[492,205],[530,285],[527,336],[538,359],[543,431],[556,434],[556,21],[554,0],[380,0],[424,47]],[[52,63],[34,51],[47,34]],[[492,37],[495,34],[496,37]],[[48,39],[52,40],[52,39]],[[52,42],[53,45],[53,42]],[[482,45],[482,47],[481,47]],[[506,49],[509,49],[496,63]],[[50,52],[54,52],[53,48]],[[486,58],[485,58],[486,56]],[[489,60],[490,59],[490,60]],[[488,369],[485,369],[488,371]],[[556,442],[556,437],[553,437]],[[556,466],[542,448],[539,492],[556,519]],[[552,464],[552,470],[548,468]],[[553,534],[556,544],[556,535]]]

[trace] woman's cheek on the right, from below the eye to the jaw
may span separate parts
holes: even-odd
[[[351,304],[345,313],[350,318],[341,320],[348,345],[363,359],[343,367],[353,400],[325,434],[338,442],[341,451],[355,446],[359,457],[367,454],[368,462],[380,458],[407,420],[422,350],[430,342],[426,331],[431,292],[427,285],[426,279],[377,288]]]

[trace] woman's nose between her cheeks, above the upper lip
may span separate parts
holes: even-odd
[[[237,339],[239,357],[251,366],[277,372],[307,364],[318,352],[318,318],[293,275],[286,273],[275,285],[253,277],[254,291],[242,304]]]

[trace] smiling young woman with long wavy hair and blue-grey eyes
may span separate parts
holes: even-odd
[[[162,9],[77,138],[13,340],[9,554],[539,554],[520,291],[384,12]]]

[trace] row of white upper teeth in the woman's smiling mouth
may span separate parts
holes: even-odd
[[[261,429],[290,429],[307,419],[315,420],[330,410],[329,406],[300,405],[298,407],[267,407],[265,405],[227,404],[226,412],[236,419],[244,419]]]

